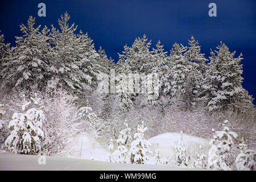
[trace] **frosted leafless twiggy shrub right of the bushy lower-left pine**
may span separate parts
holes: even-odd
[[[63,90],[46,92],[44,104],[47,118],[44,127],[46,154],[59,156],[67,152],[68,145],[73,142],[73,134],[80,131],[77,108]]]

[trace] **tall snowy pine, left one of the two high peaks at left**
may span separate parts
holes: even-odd
[[[3,78],[11,87],[31,89],[32,85],[41,86],[47,80],[48,64],[40,50],[47,38],[39,31],[40,26],[34,28],[34,24],[35,18],[30,16],[27,27],[20,25],[23,36],[16,37],[13,56],[3,70]]]

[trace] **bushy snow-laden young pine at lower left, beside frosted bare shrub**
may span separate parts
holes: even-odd
[[[23,113],[14,113],[9,123],[13,127],[10,136],[5,141],[6,151],[14,154],[40,154],[43,151],[44,133],[43,125],[45,117],[43,103],[35,94],[31,97],[35,107],[31,107],[31,101],[26,101],[23,95]]]

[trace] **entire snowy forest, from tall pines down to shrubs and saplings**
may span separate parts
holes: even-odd
[[[30,16],[15,47],[0,33],[1,152],[71,156],[75,136],[86,133],[92,150],[107,146],[105,162],[256,169],[256,109],[242,86],[242,53],[220,42],[207,58],[193,36],[169,51],[143,35],[113,60],[69,18],[49,28]],[[173,156],[164,156],[164,144],[152,149],[165,133],[176,134]],[[207,147],[185,142],[189,136]]]

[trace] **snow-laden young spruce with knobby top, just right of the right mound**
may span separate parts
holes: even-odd
[[[227,124],[228,120],[225,120],[222,131],[213,131],[213,139],[210,140],[210,150],[208,154],[208,168],[215,170],[230,171],[230,164],[227,162],[232,147],[234,146],[233,138],[237,138],[238,135],[229,130]]]

